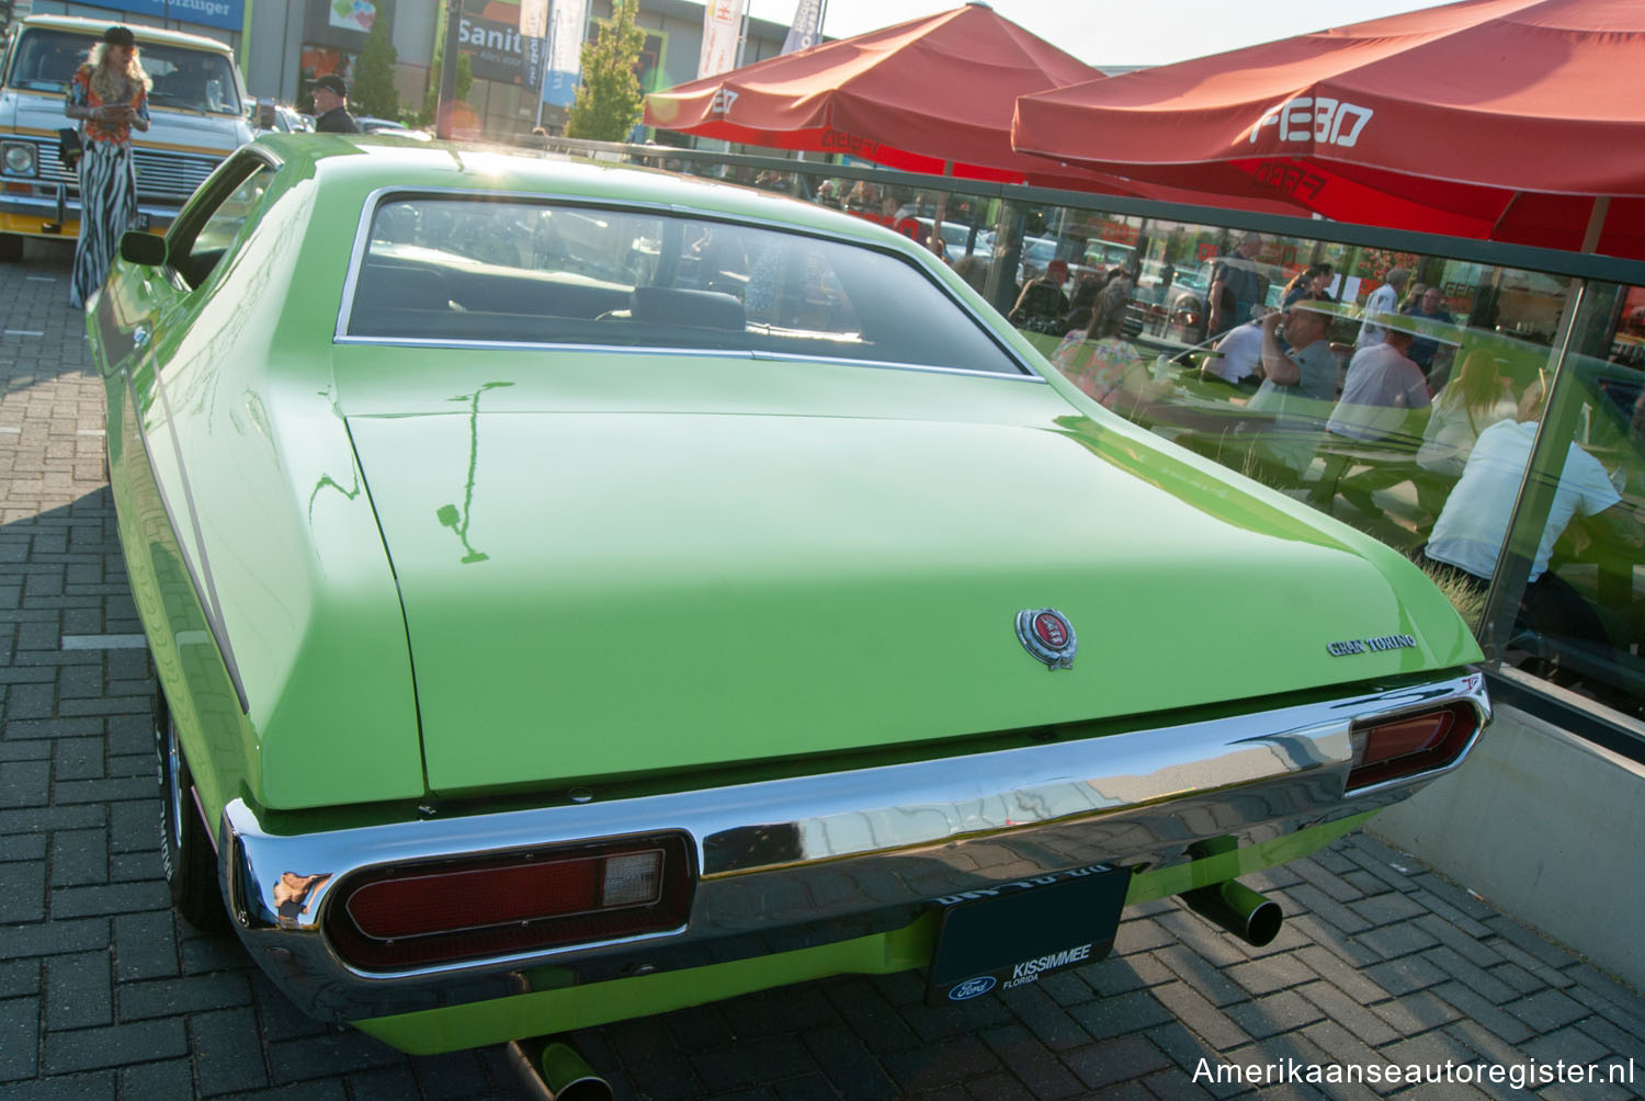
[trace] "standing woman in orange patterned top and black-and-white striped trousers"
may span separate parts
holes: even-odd
[[[137,166],[132,128],[148,130],[148,74],[137,61],[137,39],[110,26],[90,59],[69,82],[63,114],[81,120],[81,235],[74,242],[69,304],[102,286],[120,247],[120,234],[137,214]]]

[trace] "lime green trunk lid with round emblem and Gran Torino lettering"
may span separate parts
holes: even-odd
[[[1364,545],[1082,416],[477,410],[349,418],[436,792],[1142,714],[1466,647]],[[1017,637],[1041,607],[1077,632],[1069,670]]]

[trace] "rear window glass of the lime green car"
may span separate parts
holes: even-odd
[[[467,197],[378,206],[345,332],[1025,374],[890,253],[658,211]]]

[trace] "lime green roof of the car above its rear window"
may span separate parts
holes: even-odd
[[[301,174],[311,170],[322,183],[336,181],[341,189],[362,196],[375,191],[515,193],[521,197],[671,206],[679,212],[803,227],[926,255],[906,237],[859,217],[658,168],[523,153],[512,146],[413,142],[393,133],[265,133],[257,145],[299,168]]]

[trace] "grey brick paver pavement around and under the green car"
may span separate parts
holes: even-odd
[[[153,686],[130,647],[138,624],[102,477],[102,388],[66,304],[67,270],[66,249],[35,244],[23,263],[0,263],[0,1096],[517,1096],[495,1050],[408,1058],[301,1017],[232,936],[202,936],[168,910]],[[1255,884],[1290,917],[1263,950],[1158,904],[1127,917],[1114,958],[954,1009],[926,1009],[911,974],[842,978],[576,1042],[620,1098],[671,1101],[1252,1093],[1196,1081],[1201,1060],[1632,1058],[1645,1081],[1645,1001],[1375,839]],[[1638,935],[1637,923],[1619,915],[1617,935]],[[1508,1085],[1379,1091],[1528,1096]]]

